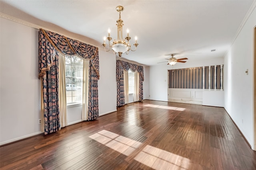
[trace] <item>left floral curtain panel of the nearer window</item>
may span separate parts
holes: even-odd
[[[60,130],[58,103],[58,56],[46,37],[39,35],[39,77],[42,77],[44,103],[44,134]]]

